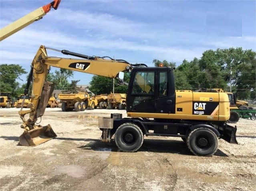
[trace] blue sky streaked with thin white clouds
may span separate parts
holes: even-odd
[[[50,2],[0,0],[0,28]],[[40,45],[148,66],[153,59],[179,65],[208,49],[256,51],[256,1],[62,0],[58,10],[0,42],[0,64],[29,71]],[[48,56],[71,57],[52,51]],[[70,80],[87,85],[91,77],[74,72]]]

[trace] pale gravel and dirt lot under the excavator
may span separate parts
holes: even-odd
[[[0,108],[2,191],[251,191],[256,187],[256,121],[239,120],[238,145],[220,140],[214,156],[198,157],[181,138],[145,137],[135,153],[119,152],[114,141],[101,143],[97,118],[119,110],[46,108],[40,124],[51,124],[58,137],[36,147],[17,146],[23,132],[18,110]]]

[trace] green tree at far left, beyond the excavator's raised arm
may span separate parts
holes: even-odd
[[[16,97],[16,90],[19,86],[19,83],[16,80],[20,79],[20,75],[26,73],[25,69],[18,64],[0,65],[0,91],[11,92],[11,95]]]

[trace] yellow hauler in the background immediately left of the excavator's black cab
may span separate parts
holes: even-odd
[[[108,108],[120,110],[125,109],[126,107],[126,94],[121,93],[111,93],[107,96]]]

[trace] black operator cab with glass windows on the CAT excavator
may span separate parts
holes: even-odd
[[[170,68],[134,69],[129,82],[127,112],[175,113],[175,90]]]

